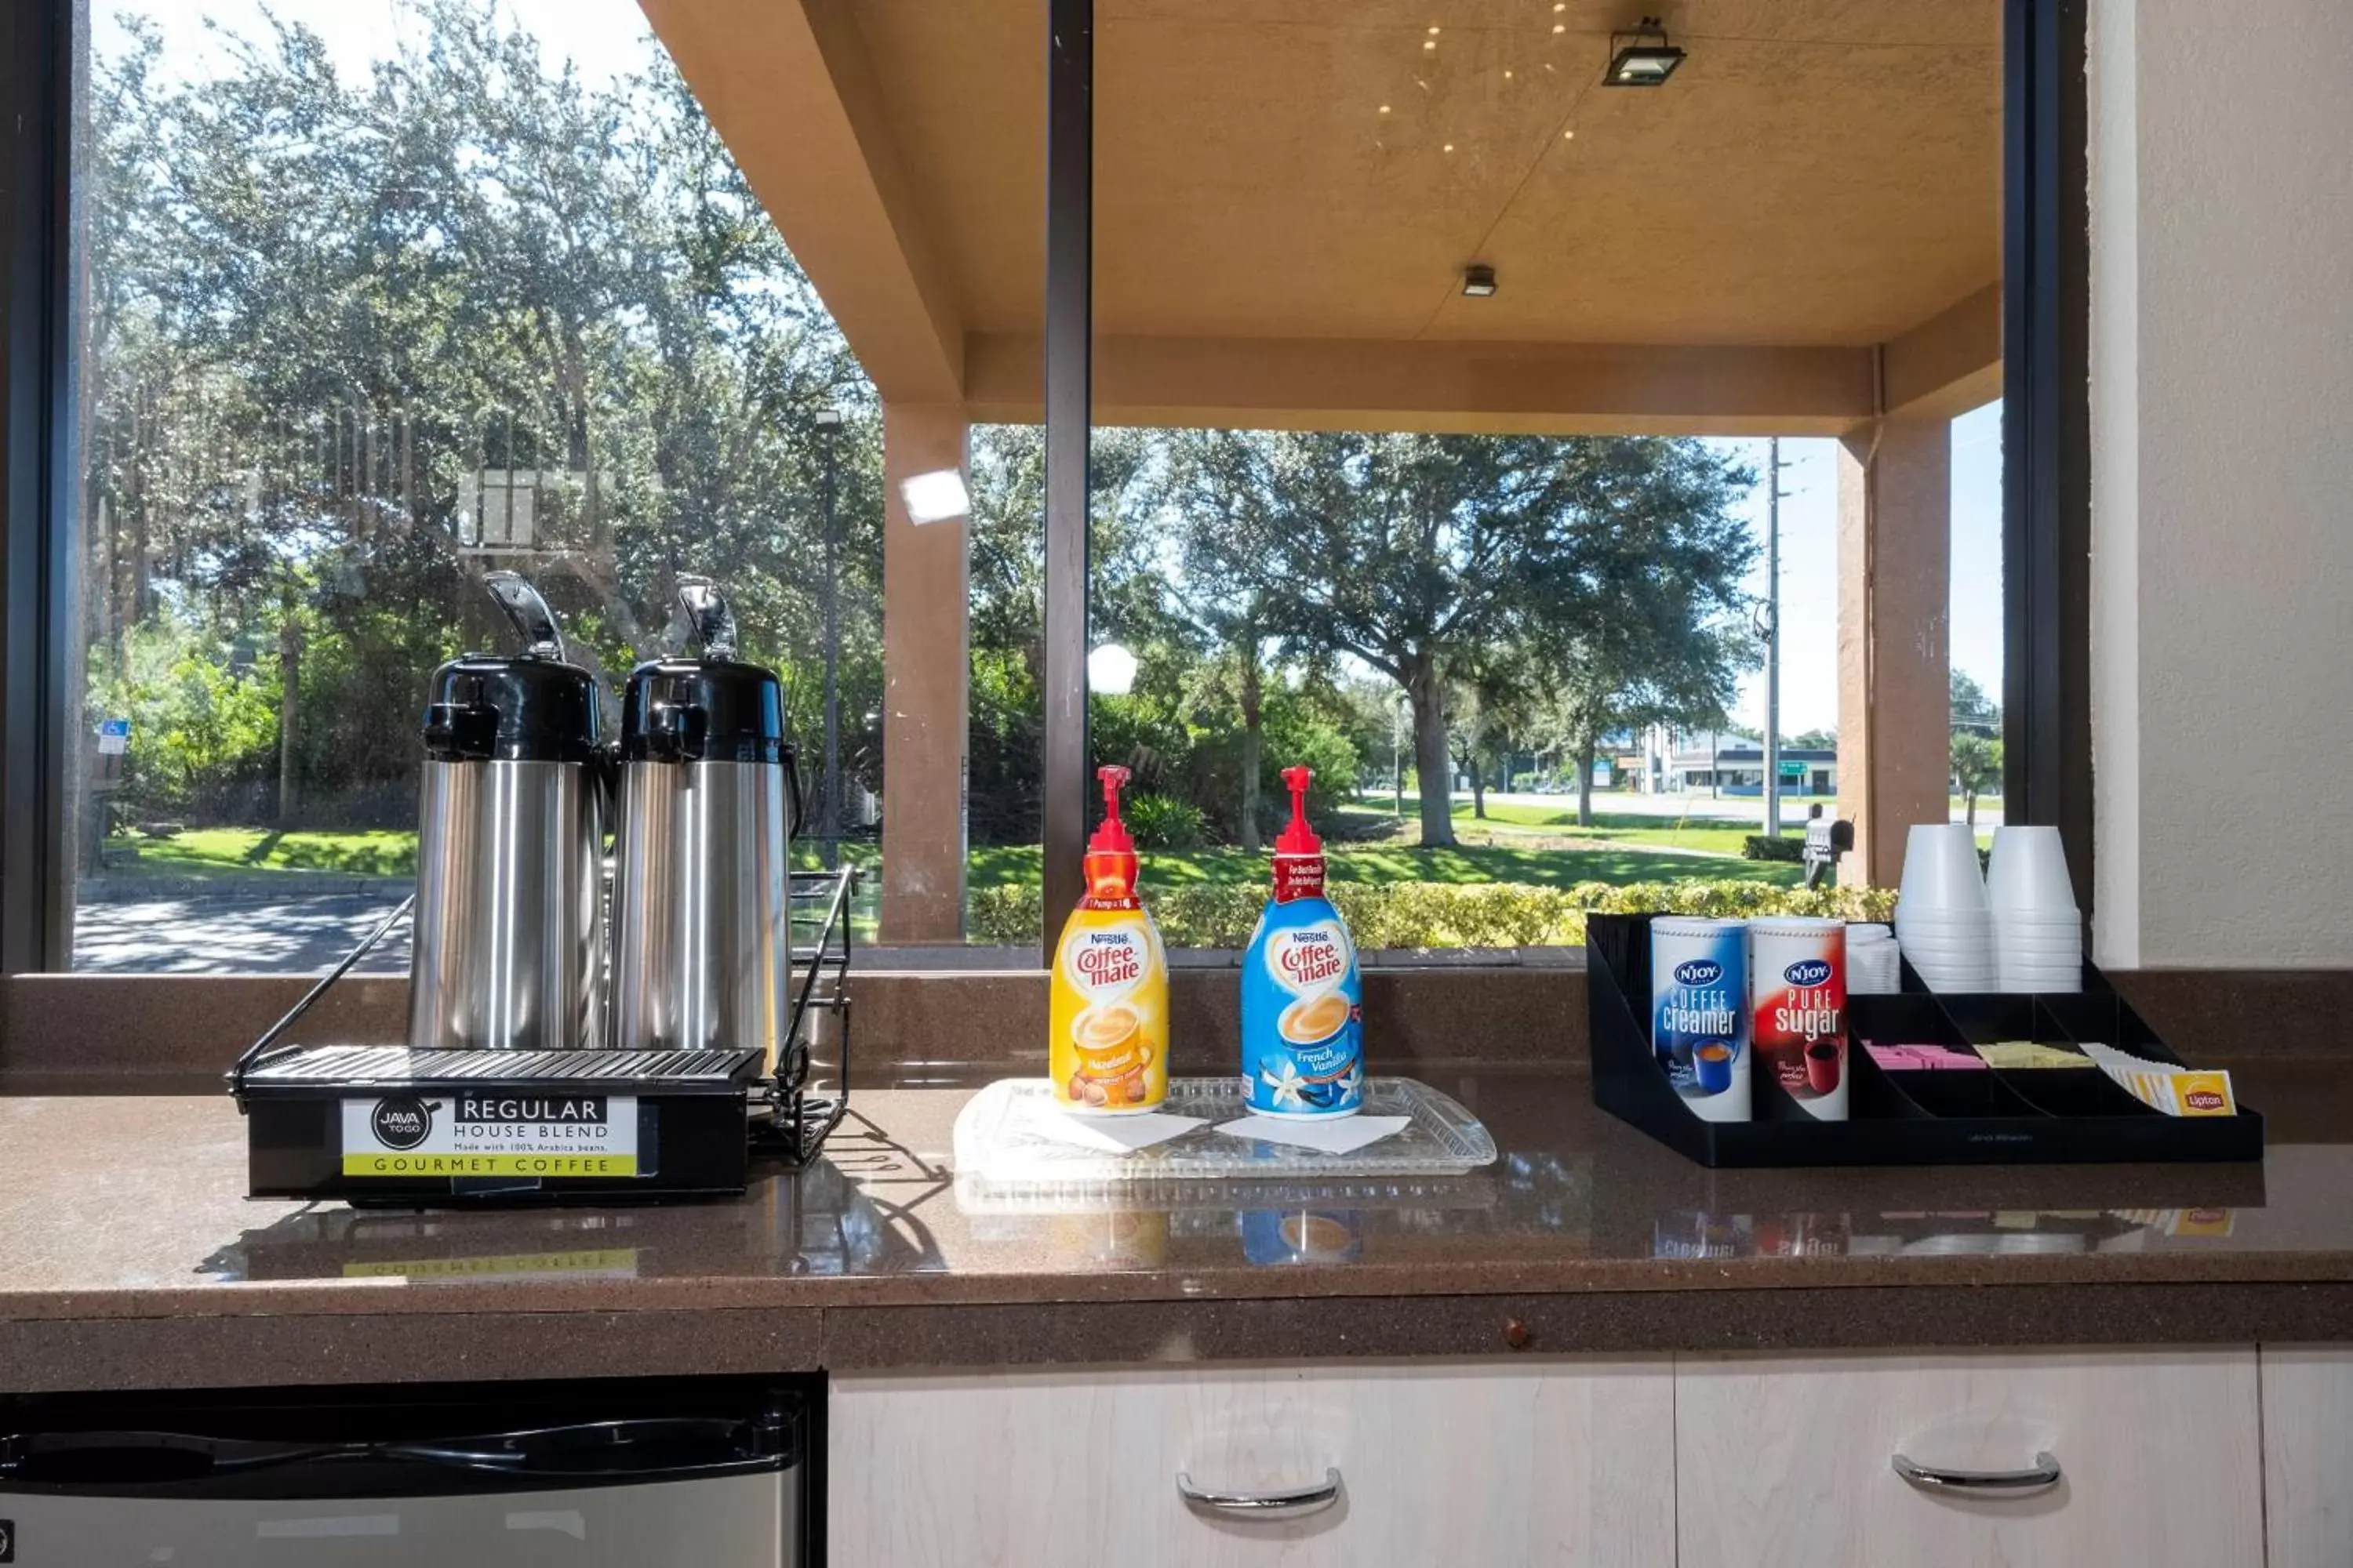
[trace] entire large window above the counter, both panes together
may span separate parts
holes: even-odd
[[[1817,811],[1878,907],[1911,823],[2073,788],[2002,757],[2059,691],[2002,520],[2045,567],[2068,524],[1993,402],[2064,284],[2002,277],[2000,0],[1099,5],[1052,310],[1040,5],[45,5],[78,969],[318,969],[395,903],[501,567],[607,682],[722,578],[805,853],[918,961],[1035,952],[1094,762],[1179,945],[1247,936],[1289,764],[1374,947],[1802,903]],[[2064,263],[2009,176],[2009,254]]]

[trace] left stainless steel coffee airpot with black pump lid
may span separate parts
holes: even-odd
[[[546,599],[487,578],[518,654],[433,672],[424,719],[409,1046],[600,1044],[605,757],[598,682]]]

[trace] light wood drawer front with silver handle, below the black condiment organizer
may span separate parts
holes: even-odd
[[[2254,1568],[2261,1427],[2252,1347],[1682,1356],[1678,1563]],[[1906,1453],[2017,1472],[2045,1450],[2064,1479],[2031,1495],[1927,1493],[1892,1469]]]

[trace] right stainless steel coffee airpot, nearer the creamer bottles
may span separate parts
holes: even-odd
[[[734,614],[680,578],[696,651],[631,672],[614,832],[612,1044],[793,1044],[791,851],[800,783],[774,670],[739,661]],[[791,1063],[786,1063],[791,1070]]]

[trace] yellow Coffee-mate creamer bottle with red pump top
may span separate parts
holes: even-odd
[[[1087,842],[1087,896],[1054,950],[1047,1056],[1056,1100],[1118,1117],[1158,1110],[1169,1093],[1169,966],[1136,898],[1136,844],[1120,820],[1127,769],[1096,776],[1104,825]]]

